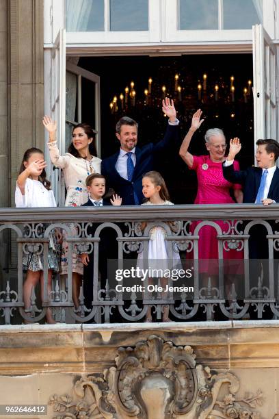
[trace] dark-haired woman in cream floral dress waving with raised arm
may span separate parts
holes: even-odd
[[[101,173],[101,159],[96,157],[94,132],[90,125],[79,124],[72,130],[72,142],[68,153],[60,155],[56,141],[57,125],[49,116],[44,116],[42,123],[49,131],[49,153],[51,162],[63,170],[66,185],[66,207],[79,207],[88,201],[85,179],[91,173]],[[75,229],[74,225],[70,226]],[[61,274],[68,274],[68,244],[66,237],[62,244]],[[72,253],[72,297],[75,307],[79,306],[79,287],[83,275],[80,256]]]

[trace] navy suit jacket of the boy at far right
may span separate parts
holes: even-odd
[[[233,164],[224,166],[224,178],[233,183],[241,183],[243,185],[243,203],[254,203],[256,194],[261,183],[263,169],[260,167],[249,167],[246,170],[235,170]],[[271,181],[267,198],[274,199],[279,202],[279,170],[276,168]]]

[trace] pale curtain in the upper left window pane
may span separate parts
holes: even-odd
[[[67,31],[86,31],[92,0],[66,0]]]

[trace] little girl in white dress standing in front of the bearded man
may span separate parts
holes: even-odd
[[[142,205],[174,205],[172,202],[169,201],[169,193],[168,189],[165,186],[165,181],[163,177],[160,175],[159,172],[152,170],[144,175],[142,178],[142,193],[146,198],[146,202]],[[178,223],[168,222],[170,228],[173,231],[178,231],[179,225]],[[142,230],[145,229],[147,223],[142,223]],[[168,252],[168,243],[165,240],[166,231],[163,227],[155,226],[152,227],[149,231],[150,240],[148,242],[148,268],[152,268],[155,270],[162,269],[168,270],[172,268],[169,265],[169,261],[176,261],[178,263],[180,261],[180,256],[178,251],[175,252],[173,249]],[[143,252],[139,253],[137,258],[137,266],[143,266]],[[152,279],[148,280],[148,283],[152,283]],[[163,288],[166,287],[168,283],[168,278],[163,277],[161,278],[161,286]],[[168,296],[168,292],[163,292],[163,298]],[[163,307],[163,322],[170,322],[169,315],[169,305],[165,305]],[[151,307],[148,307],[148,311],[146,312],[146,322],[152,322],[151,316]]]

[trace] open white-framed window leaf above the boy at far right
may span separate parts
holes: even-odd
[[[278,139],[278,62],[276,46],[262,25],[253,26],[254,136]],[[256,145],[255,145],[256,147]]]

